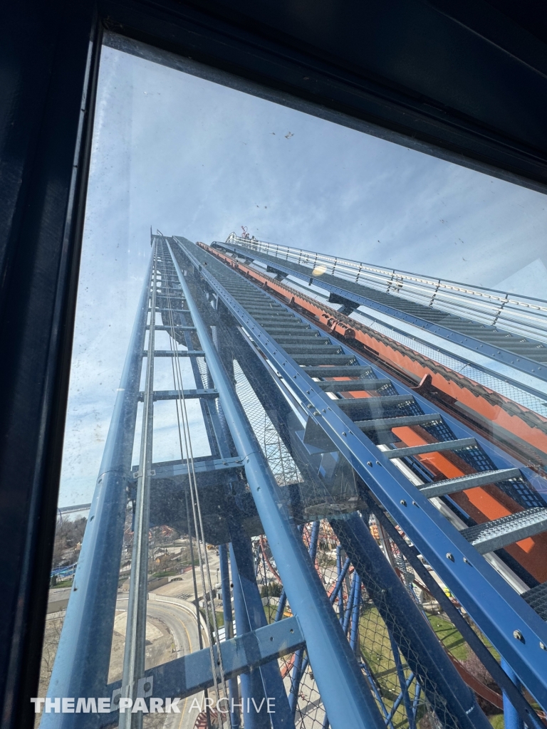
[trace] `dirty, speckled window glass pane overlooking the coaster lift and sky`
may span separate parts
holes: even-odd
[[[545,197],[107,43],[36,725],[541,716]]]

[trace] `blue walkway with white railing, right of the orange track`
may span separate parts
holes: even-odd
[[[214,246],[260,261],[278,276],[294,276],[329,292],[329,301],[351,313],[365,305],[417,324],[451,345],[481,354],[547,380],[547,307],[537,299],[454,281],[432,280],[404,271],[382,270],[287,246],[247,241],[231,235]]]

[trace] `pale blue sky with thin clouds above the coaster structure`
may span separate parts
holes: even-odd
[[[93,494],[150,227],[210,243],[242,225],[263,241],[547,291],[546,195],[104,47],[61,506]],[[168,423],[162,413],[155,459],[176,457]]]

